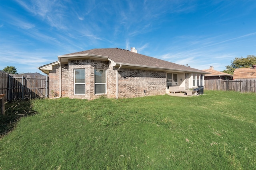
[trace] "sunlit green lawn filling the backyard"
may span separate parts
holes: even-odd
[[[256,169],[256,94],[33,100],[0,169]]]

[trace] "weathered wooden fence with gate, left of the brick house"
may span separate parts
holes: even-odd
[[[0,94],[5,101],[24,98],[47,98],[49,95],[48,76],[8,74],[0,72]]]

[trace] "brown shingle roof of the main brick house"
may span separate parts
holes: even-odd
[[[204,72],[202,70],[198,70],[195,68],[183,66],[180,64],[171,63],[168,61],[164,61],[161,59],[156,59],[154,57],[149,57],[146,55],[134,53],[124,49],[118,48],[108,48],[108,49],[91,49],[87,51],[80,51],[76,53],[70,53],[61,57],[67,56],[79,56],[79,55],[98,55],[108,57],[111,61],[114,61],[116,64],[122,65],[132,65],[132,66],[143,66],[149,68],[160,68],[160,69],[168,69],[168,70],[179,70],[179,71],[187,71],[187,72],[198,72],[203,74],[208,74],[208,72]]]

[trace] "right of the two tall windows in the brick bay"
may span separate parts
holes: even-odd
[[[106,70],[94,70],[95,94],[106,93]]]

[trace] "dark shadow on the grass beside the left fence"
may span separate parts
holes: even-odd
[[[12,100],[5,104],[5,115],[0,114],[0,138],[11,132],[21,117],[36,114],[32,100]]]

